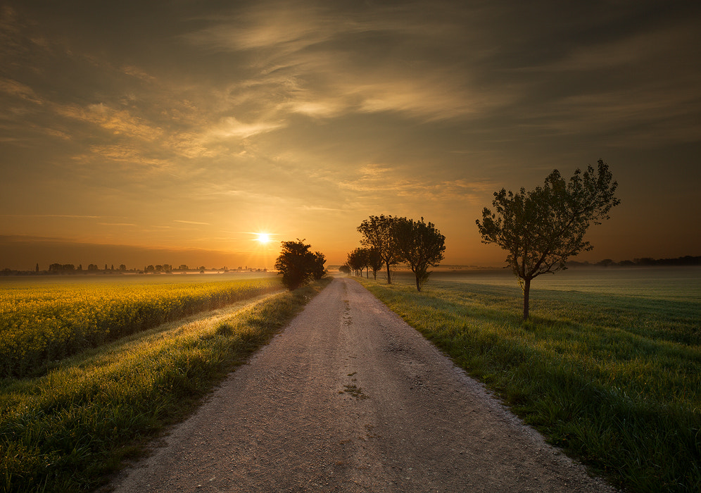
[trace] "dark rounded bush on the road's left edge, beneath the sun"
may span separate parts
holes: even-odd
[[[326,270],[324,254],[312,253],[311,245],[304,244],[304,239],[296,242],[282,242],[282,251],[275,261],[275,268],[282,274],[282,284],[287,289],[297,289],[312,279],[321,279]]]

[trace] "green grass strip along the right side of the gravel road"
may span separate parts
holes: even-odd
[[[357,279],[357,278],[356,278]],[[701,306],[360,280],[550,443],[633,492],[701,491]]]

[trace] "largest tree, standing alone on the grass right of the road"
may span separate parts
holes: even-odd
[[[611,208],[620,204],[614,196],[617,187],[600,159],[596,173],[591,166],[583,173],[577,168],[569,182],[553,170],[543,187],[529,192],[522,188],[517,194],[494,192],[494,212],[485,207],[476,224],[483,243],[498,244],[508,252],[506,261],[524,292],[524,320],[529,316],[531,281],[564,270],[568,257],[593,249],[584,234],[591,224],[609,219]]]

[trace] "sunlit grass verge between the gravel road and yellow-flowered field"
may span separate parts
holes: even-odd
[[[96,489],[165,426],[194,411],[328,282],[132,335],[42,377],[0,380],[0,490]]]

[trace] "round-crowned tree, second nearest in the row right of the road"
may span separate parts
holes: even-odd
[[[446,237],[433,223],[424,223],[407,218],[395,218],[394,241],[400,259],[412,270],[416,277],[416,290],[429,278],[429,267],[437,266],[446,251]]]

